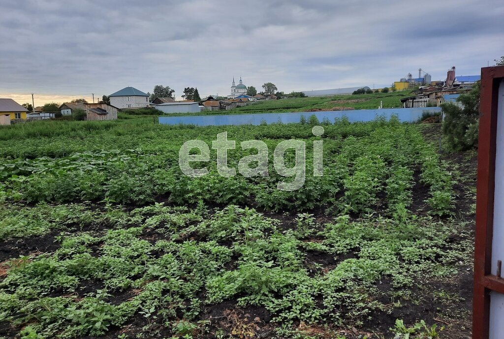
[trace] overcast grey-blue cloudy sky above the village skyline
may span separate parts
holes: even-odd
[[[35,104],[125,86],[227,95],[475,75],[504,55],[502,0],[0,0],[0,97]]]

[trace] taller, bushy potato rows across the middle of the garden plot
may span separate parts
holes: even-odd
[[[290,132],[298,131],[297,137],[309,130],[293,125],[289,125]],[[203,200],[224,205],[253,204],[277,211],[309,210],[327,204],[338,211],[355,213],[376,210],[385,204],[391,212],[404,213],[412,201],[413,173],[418,170],[422,183],[430,190],[427,203],[431,211],[439,215],[450,213],[454,198],[452,177],[433,146],[413,126],[391,122],[383,126],[375,123],[373,127],[359,137],[324,138],[322,177],[312,176],[310,141],[314,137],[305,139],[305,183],[292,192],[276,189],[277,183],[285,180],[273,167],[273,149],[280,140],[264,139],[270,149],[268,177],[245,178],[238,174],[223,178],[217,173],[215,153],[205,164],[210,173],[190,178],[178,168],[178,149],[155,153],[140,149],[88,151],[60,158],[5,161],[0,165],[0,195],[27,202],[106,200],[136,204],[163,195],[177,204]],[[284,132],[284,138],[290,137]],[[211,143],[211,139],[207,142]],[[241,157],[251,154],[239,146],[228,153],[230,167],[236,167]]]

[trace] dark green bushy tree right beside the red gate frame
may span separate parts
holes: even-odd
[[[452,150],[466,150],[478,145],[479,129],[479,95],[478,81],[471,92],[459,95],[457,102],[441,104],[445,113],[443,134],[448,139]]]

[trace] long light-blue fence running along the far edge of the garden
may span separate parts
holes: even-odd
[[[196,126],[223,126],[223,125],[260,125],[261,122],[272,123],[298,123],[301,116],[308,119],[314,115],[323,121],[325,118],[334,122],[335,118],[347,117],[350,122],[372,121],[378,117],[389,120],[397,116],[399,121],[414,123],[422,117],[423,112],[431,114],[441,112],[440,107],[415,107],[415,108],[384,108],[384,109],[356,109],[356,110],[331,110],[319,112],[289,112],[289,113],[261,113],[261,114],[234,114],[210,115],[190,117],[159,117],[163,125],[196,125]]]

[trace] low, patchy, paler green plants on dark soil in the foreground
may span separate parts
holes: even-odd
[[[80,215],[73,218],[81,227],[108,220],[114,228],[62,230],[54,253],[7,262],[3,319],[24,327],[22,334],[29,326],[32,337],[63,338],[103,335],[141,314],[151,336],[147,331],[160,326],[179,335],[179,322],[186,321],[199,337],[205,309],[235,300],[266,308],[277,325],[359,327],[390,307],[379,301],[377,281],[410,288],[426,276],[453,274],[465,248],[446,242],[459,232],[454,224],[429,218],[403,223],[340,215],[319,224],[304,213],[283,229],[277,219],[233,205],[111,210],[60,211]],[[314,236],[320,240],[311,241]],[[334,257],[333,267],[307,261],[310,251]],[[338,259],[349,253],[353,258]],[[102,288],[83,292],[91,283]]]

